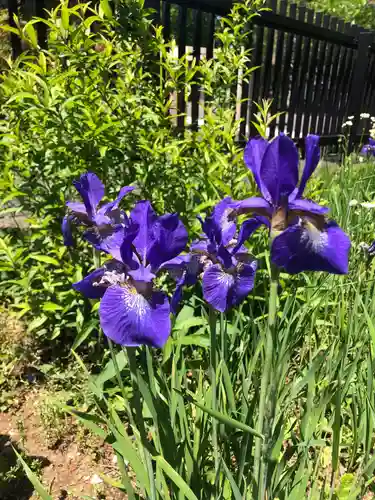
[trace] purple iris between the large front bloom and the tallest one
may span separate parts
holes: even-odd
[[[190,253],[163,264],[177,282],[171,303],[174,311],[183,287],[194,285],[199,276],[205,300],[221,312],[240,304],[253,289],[257,263],[243,242],[262,220],[245,221],[236,238],[236,211],[232,205],[231,198],[218,203],[212,215],[201,220],[204,235],[192,243]]]

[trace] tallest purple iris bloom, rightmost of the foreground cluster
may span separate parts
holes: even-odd
[[[241,213],[266,217],[271,229],[271,259],[290,274],[301,271],[348,272],[350,240],[334,221],[328,208],[302,198],[308,179],[320,159],[319,137],[305,141],[306,162],[298,184],[298,151],[293,141],[280,134],[272,142],[251,139],[245,163],[262,194],[234,203]]]

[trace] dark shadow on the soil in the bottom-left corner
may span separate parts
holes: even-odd
[[[1,500],[28,500],[32,497],[34,488],[22,468],[17,462],[14,453],[15,448],[20,449],[12,438],[6,434],[0,434],[0,498]],[[29,467],[33,470],[41,470],[50,464],[45,457],[24,456]]]

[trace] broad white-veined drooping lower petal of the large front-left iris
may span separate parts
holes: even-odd
[[[100,302],[99,315],[105,335],[125,346],[163,347],[171,331],[168,297],[162,292],[146,299],[135,289],[111,286]]]

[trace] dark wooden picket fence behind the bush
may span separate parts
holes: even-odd
[[[37,4],[40,13],[43,0]],[[14,10],[13,0],[8,5]],[[146,0],[155,10],[155,22],[163,24],[167,36],[175,36],[178,55],[191,52],[197,60],[214,57],[217,18],[231,5],[231,0]],[[343,121],[353,115],[354,143],[362,128],[369,128],[360,114],[375,116],[374,32],[286,0],[269,0],[265,6],[271,11],[254,17],[248,39],[252,65],[260,69],[249,84],[239,75],[240,138],[256,133],[252,103],[271,98],[272,113],[285,111],[271,126],[271,135],[285,131],[298,141],[317,133],[323,145],[334,144]],[[178,114],[185,114],[177,118],[178,126],[197,128],[204,120],[200,89],[194,87],[187,101],[183,94],[176,101]]]

